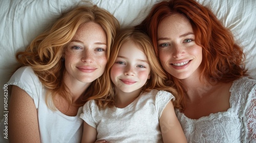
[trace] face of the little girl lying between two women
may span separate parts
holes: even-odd
[[[117,92],[140,90],[150,79],[150,64],[144,52],[132,40],[124,42],[119,50],[110,76]]]

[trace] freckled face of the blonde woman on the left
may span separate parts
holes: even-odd
[[[65,49],[66,77],[71,82],[91,83],[106,65],[106,34],[95,22],[84,23]]]

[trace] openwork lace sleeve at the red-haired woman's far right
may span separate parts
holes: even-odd
[[[244,122],[247,127],[247,141],[256,142],[256,85],[252,88],[247,99]],[[246,142],[247,142],[246,141]]]

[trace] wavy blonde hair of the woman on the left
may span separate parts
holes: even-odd
[[[70,43],[78,28],[89,21],[98,23],[105,31],[108,42],[106,57],[109,60],[110,48],[116,31],[119,29],[119,22],[108,11],[96,5],[78,6],[63,14],[48,30],[37,36],[25,52],[16,54],[18,62],[22,63],[22,66],[31,66],[42,84],[48,88],[47,104],[48,100],[53,101],[57,95],[66,99],[70,105],[72,104],[69,90],[63,83],[65,64],[61,61],[61,57],[65,47]],[[104,83],[102,77],[93,81],[84,96],[90,97],[95,94],[105,93],[107,88]],[[51,109],[53,109],[52,107]]]

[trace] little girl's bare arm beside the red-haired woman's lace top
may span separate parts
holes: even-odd
[[[164,108],[159,120],[163,142],[187,142],[172,101]]]

